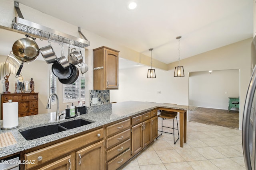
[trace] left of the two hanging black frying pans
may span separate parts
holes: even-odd
[[[52,73],[60,79],[68,79],[74,74],[72,66],[63,68],[63,66],[57,61],[52,64]]]

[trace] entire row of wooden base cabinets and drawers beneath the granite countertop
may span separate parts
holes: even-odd
[[[116,170],[157,137],[157,109],[21,152],[25,170]],[[138,127],[138,128],[137,128]]]

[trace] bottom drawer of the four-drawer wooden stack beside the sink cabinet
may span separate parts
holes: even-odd
[[[127,162],[130,159],[130,153],[130,149],[128,149],[124,153],[120,154],[119,156],[108,162],[107,170],[116,170],[117,168],[122,166],[125,162]]]

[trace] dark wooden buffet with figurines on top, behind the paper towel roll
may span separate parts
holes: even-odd
[[[1,95],[1,119],[3,119],[3,103],[18,102],[19,117],[38,114],[38,93],[6,93]]]

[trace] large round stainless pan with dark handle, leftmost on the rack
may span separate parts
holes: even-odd
[[[23,63],[34,61],[39,55],[39,47],[35,38],[26,35],[26,38],[18,39],[12,45],[12,53],[19,61],[22,61],[16,77],[20,75]]]

